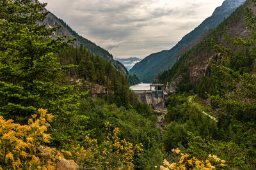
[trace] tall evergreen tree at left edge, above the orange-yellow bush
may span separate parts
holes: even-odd
[[[54,111],[72,89],[62,88],[65,70],[54,57],[68,42],[48,39],[57,28],[38,24],[48,14],[45,5],[0,1],[0,112],[6,118],[22,121],[42,107]]]

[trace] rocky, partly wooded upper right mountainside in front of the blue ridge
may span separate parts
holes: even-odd
[[[220,58],[213,50],[212,39],[214,39],[216,44],[236,51],[239,50],[239,48],[233,48],[227,43],[225,40],[226,34],[233,39],[236,37],[244,38],[250,35],[250,30],[247,29],[247,26],[244,24],[243,15],[245,13],[245,6],[250,5],[251,4],[246,1],[243,6],[237,8],[237,10],[216,27],[216,29],[212,29],[208,34],[201,37],[197,44],[189,45],[189,48],[186,47],[188,48],[187,51],[184,50],[184,54],[180,55],[179,60],[173,67],[159,74],[157,80],[161,83],[172,81],[173,84],[178,86],[180,83],[183,83],[183,85],[190,83],[193,87],[196,87],[203,76],[209,76],[211,74],[210,60],[218,60]],[[252,5],[250,7],[253,8]],[[255,11],[256,8],[254,7],[253,10]],[[233,62],[232,64],[239,66],[239,61]]]

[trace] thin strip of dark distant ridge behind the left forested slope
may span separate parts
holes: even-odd
[[[118,69],[118,71],[128,74],[127,69],[121,64],[121,62],[114,60],[113,55],[111,55],[107,50],[104,50],[100,46],[96,45],[92,41],[83,38],[77,34],[70,26],[68,26],[63,20],[56,17],[53,13],[49,13],[44,20],[44,24],[48,25],[49,27],[58,27],[60,28],[55,32],[54,36],[63,36],[67,35],[68,38],[77,38],[77,41],[74,43],[74,46],[79,47],[83,45],[86,49],[88,49],[93,55],[98,55],[102,59],[106,61],[110,61],[113,66]]]

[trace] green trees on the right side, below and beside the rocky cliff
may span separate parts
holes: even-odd
[[[220,56],[211,61],[210,76],[202,77],[198,83],[197,93],[202,98],[195,101],[184,93],[168,100],[166,120],[170,124],[163,136],[166,151],[179,146],[200,159],[208,154],[218,155],[227,161],[227,169],[256,168],[256,16],[250,8],[245,11],[252,36],[236,39],[226,36],[236,51],[212,41]],[[210,108],[202,106],[200,101]],[[202,113],[205,110],[218,122]]]

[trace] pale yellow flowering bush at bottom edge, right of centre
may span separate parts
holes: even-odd
[[[173,155],[175,155],[175,162],[169,163],[166,159],[163,161],[163,166],[160,166],[161,170],[169,169],[202,169],[212,170],[216,167],[225,167],[225,160],[219,159],[216,155],[209,155],[205,160],[198,160],[196,157],[190,157],[188,154],[182,153],[179,148],[172,149]]]

